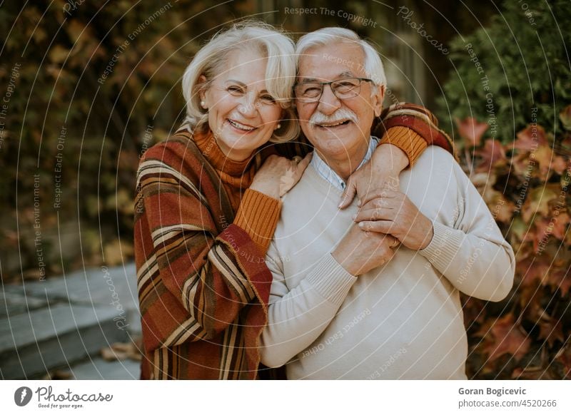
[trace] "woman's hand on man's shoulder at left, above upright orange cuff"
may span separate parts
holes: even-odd
[[[312,154],[297,160],[279,155],[269,156],[254,176],[250,188],[274,199],[281,198],[298,183],[311,161]]]

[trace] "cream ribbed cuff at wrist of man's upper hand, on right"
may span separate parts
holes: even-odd
[[[446,270],[460,250],[464,241],[464,233],[439,222],[433,222],[434,236],[427,247],[419,250],[437,270]]]

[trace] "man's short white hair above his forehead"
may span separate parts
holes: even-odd
[[[325,27],[305,34],[300,37],[297,46],[295,46],[295,56],[299,62],[300,56],[305,55],[310,48],[329,46],[338,42],[358,44],[365,53],[363,66],[366,76],[372,79],[377,86],[387,85],[383,61],[380,60],[377,50],[350,29]]]

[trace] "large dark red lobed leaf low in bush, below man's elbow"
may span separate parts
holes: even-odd
[[[504,354],[512,354],[519,360],[530,349],[530,337],[515,324],[512,314],[497,319],[490,330],[494,342],[487,344],[484,350],[489,354],[490,361]]]

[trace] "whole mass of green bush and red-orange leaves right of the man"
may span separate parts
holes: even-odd
[[[517,260],[507,299],[465,299],[468,374],[571,379],[571,2],[523,4],[450,42],[438,98]]]

